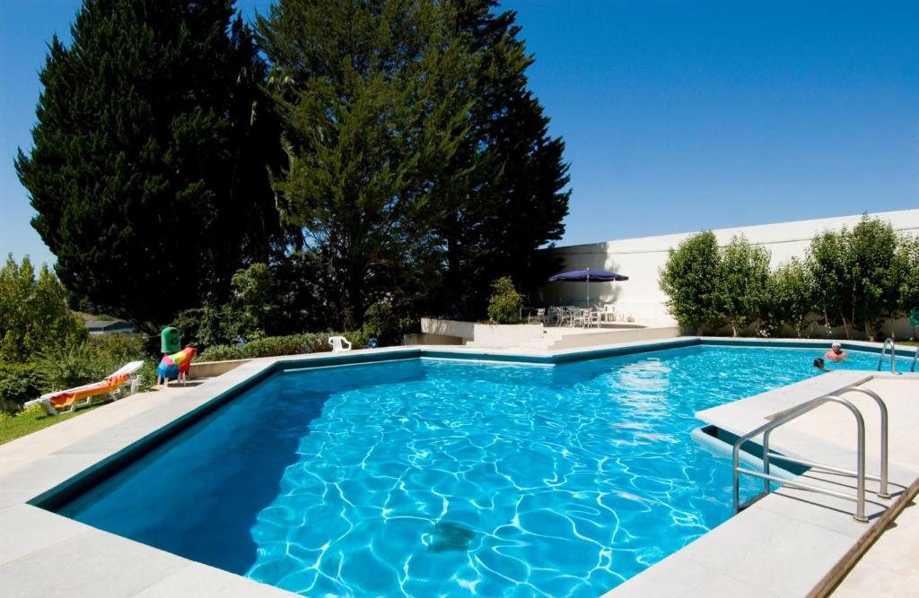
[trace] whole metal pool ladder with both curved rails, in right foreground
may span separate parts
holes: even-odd
[[[845,392],[861,392],[867,394],[871,399],[878,403],[880,410],[880,475],[872,476],[865,473],[865,418],[862,417],[861,412],[858,408],[851,402],[847,401],[841,397],[838,397],[833,394],[823,395],[816,399],[811,399],[811,401],[806,401],[790,409],[787,412],[779,415],[775,420],[765,423],[760,427],[756,428],[753,432],[748,434],[743,434],[740,438],[737,439],[737,442],[734,443],[733,449],[733,478],[734,478],[734,513],[740,513],[741,510],[750,506],[754,502],[765,498],[766,495],[771,492],[770,481],[775,481],[789,488],[798,488],[800,490],[820,492],[822,494],[828,494],[830,496],[835,496],[836,498],[845,499],[847,501],[854,501],[856,503],[856,512],[854,517],[856,521],[861,523],[867,523],[868,518],[865,516],[865,480],[874,480],[879,482],[878,496],[882,499],[891,498],[890,492],[887,491],[887,405],[883,400],[878,396],[878,393],[873,390],[862,389],[856,386],[848,386],[845,389],[840,389],[836,391],[839,394]],[[789,423],[792,420],[798,419],[801,415],[811,412],[817,407],[820,407],[824,403],[834,402],[840,405],[843,405],[849,412],[852,413],[853,417],[856,420],[857,426],[857,460],[856,460],[856,469],[851,471],[849,469],[835,468],[832,466],[824,465],[821,463],[814,463],[812,461],[805,461],[803,459],[797,459],[793,457],[787,457],[785,455],[780,455],[778,453],[773,453],[769,449],[769,435],[772,434],[772,431],[775,430],[780,425]],[[763,435],[763,471],[754,471],[749,468],[742,468],[740,464],[740,451],[741,446],[744,443],[750,441],[754,437],[762,434]],[[833,491],[827,488],[820,486],[814,486],[812,484],[806,484],[797,480],[786,480],[784,478],[778,478],[769,473],[770,462],[772,459],[780,459],[782,461],[788,461],[789,463],[796,463],[798,465],[803,465],[808,468],[813,468],[815,470],[822,470],[829,473],[842,474],[846,476],[855,477],[856,479],[856,493],[855,495],[846,494],[845,492]],[[748,476],[754,476],[755,478],[760,478],[763,480],[763,491],[754,496],[752,499],[746,502],[741,502],[741,491],[740,491],[740,477],[741,474],[746,474]]]

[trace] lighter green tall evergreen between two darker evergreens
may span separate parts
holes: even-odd
[[[275,186],[319,263],[331,323],[437,271],[431,174],[464,139],[468,46],[430,0],[281,0],[258,32],[289,164]]]

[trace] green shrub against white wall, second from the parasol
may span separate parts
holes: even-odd
[[[769,251],[733,237],[720,252],[718,281],[731,333],[740,332],[762,313],[769,284]]]

